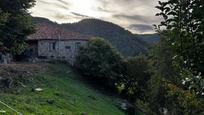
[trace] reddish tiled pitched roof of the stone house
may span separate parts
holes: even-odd
[[[28,36],[28,41],[35,40],[88,40],[91,36],[68,31],[56,25],[46,23],[37,24],[36,33]]]

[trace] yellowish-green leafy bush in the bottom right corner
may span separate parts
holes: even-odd
[[[165,82],[166,107],[171,115],[201,115],[204,101],[190,90],[184,90],[169,81]]]

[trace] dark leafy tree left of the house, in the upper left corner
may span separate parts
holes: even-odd
[[[32,17],[27,9],[34,6],[34,4],[34,0],[0,1],[1,52],[15,55],[20,54],[25,49],[26,37],[34,32]]]

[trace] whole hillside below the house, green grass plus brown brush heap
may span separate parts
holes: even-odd
[[[10,64],[0,68],[0,76],[14,76],[10,88],[0,91],[0,101],[25,115],[124,115],[117,99],[105,95],[65,64]],[[5,78],[1,77],[2,78]],[[0,114],[15,113],[0,103]]]

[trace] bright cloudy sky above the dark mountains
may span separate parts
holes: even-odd
[[[85,18],[113,22],[136,34],[155,33],[158,0],[36,0],[31,15],[57,23],[73,23]]]

